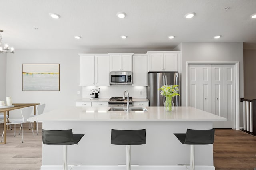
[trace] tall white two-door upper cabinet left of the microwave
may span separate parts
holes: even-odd
[[[80,55],[80,85],[110,85],[108,54]]]

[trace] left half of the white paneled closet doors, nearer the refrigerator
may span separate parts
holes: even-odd
[[[204,111],[211,111],[211,66],[189,65],[188,105]]]

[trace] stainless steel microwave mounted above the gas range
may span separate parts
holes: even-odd
[[[132,72],[110,72],[110,84],[132,84]]]

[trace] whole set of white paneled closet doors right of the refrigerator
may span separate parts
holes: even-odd
[[[188,106],[225,117],[214,128],[235,128],[235,65],[190,64]]]

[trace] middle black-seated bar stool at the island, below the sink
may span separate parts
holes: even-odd
[[[131,169],[131,145],[146,144],[146,129],[111,129],[111,144],[126,145],[126,170]]]

